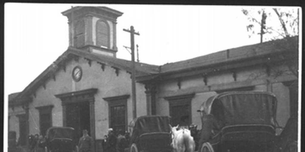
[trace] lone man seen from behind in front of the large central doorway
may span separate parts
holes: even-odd
[[[88,135],[87,130],[83,130],[83,136],[78,142],[78,152],[93,152],[93,138]]]

